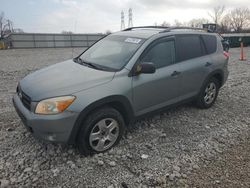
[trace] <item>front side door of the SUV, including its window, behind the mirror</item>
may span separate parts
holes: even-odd
[[[154,74],[134,76],[133,104],[136,115],[171,104],[178,98],[181,79],[175,64],[174,38],[163,38],[153,42],[139,58],[138,63],[155,64]]]

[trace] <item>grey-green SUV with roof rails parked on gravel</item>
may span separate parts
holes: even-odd
[[[211,107],[228,77],[221,41],[187,28],[129,28],[26,76],[13,103],[35,137],[104,152],[142,115],[185,101]]]

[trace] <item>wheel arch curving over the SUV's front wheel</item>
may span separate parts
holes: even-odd
[[[134,111],[132,105],[126,97],[121,95],[113,95],[102,98],[98,101],[95,101],[94,103],[91,103],[80,112],[71,131],[70,138],[68,141],[69,144],[75,143],[78,132],[86,117],[94,110],[104,106],[110,106],[119,111],[122,117],[124,118],[126,125],[129,125],[131,121],[134,119]]]

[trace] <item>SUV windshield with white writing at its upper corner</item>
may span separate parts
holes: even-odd
[[[124,67],[143,43],[141,38],[109,35],[87,49],[80,58],[113,70]]]

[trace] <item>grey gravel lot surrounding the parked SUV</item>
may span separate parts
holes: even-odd
[[[75,53],[82,49],[75,49]],[[1,187],[250,187],[250,48],[231,49],[215,105],[183,105],[134,124],[118,146],[84,157],[26,131],[11,102],[18,80],[71,49],[0,51]]]

